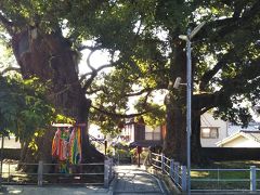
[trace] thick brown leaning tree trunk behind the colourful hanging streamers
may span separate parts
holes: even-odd
[[[54,106],[64,115],[74,117],[77,122],[87,123],[91,101],[86,99],[78,79],[77,53],[72,51],[70,44],[63,38],[61,31],[47,35],[37,28],[27,28],[12,37],[12,47],[23,77],[36,76],[43,82],[50,82],[49,98]],[[51,146],[53,133],[46,134],[43,147]],[[93,156],[95,159],[88,160],[102,160],[103,156],[90,147],[87,131],[82,136],[83,159]],[[50,148],[44,151],[49,153]],[[50,155],[42,154],[40,158],[49,161]]]

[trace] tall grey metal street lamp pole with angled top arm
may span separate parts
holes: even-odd
[[[191,134],[192,134],[192,54],[191,40],[205,25],[200,23],[191,31],[187,29],[187,35],[180,35],[179,38],[186,41],[186,164],[187,164],[187,194],[191,194]],[[180,80],[176,81],[180,83]],[[178,84],[178,83],[177,83]]]

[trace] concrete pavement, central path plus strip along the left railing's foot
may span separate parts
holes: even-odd
[[[162,183],[144,167],[117,166],[116,177],[109,188],[102,186],[36,186],[5,185],[0,194],[20,195],[161,195],[167,194]]]

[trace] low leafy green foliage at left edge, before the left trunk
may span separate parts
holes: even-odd
[[[38,79],[0,77],[0,125],[17,139],[30,141],[50,126],[54,109],[46,99],[46,87]]]

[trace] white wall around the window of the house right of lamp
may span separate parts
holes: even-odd
[[[217,147],[216,143],[227,136],[227,121],[221,119],[214,119],[211,114],[205,113],[200,117],[202,127],[218,127],[219,138],[218,139],[203,139],[200,138],[203,147]]]

